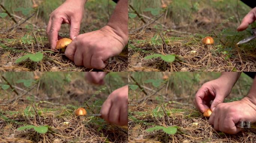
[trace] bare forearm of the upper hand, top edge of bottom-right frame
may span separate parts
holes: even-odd
[[[239,79],[241,72],[222,72],[219,79],[226,82],[232,88]]]

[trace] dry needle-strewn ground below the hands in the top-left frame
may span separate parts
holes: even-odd
[[[36,32],[35,32],[36,33]],[[10,36],[11,35],[11,36]],[[97,71],[97,69],[88,69],[85,67],[76,66],[71,60],[69,60],[63,53],[51,51],[48,40],[41,34],[30,34],[31,38],[27,40],[31,41],[31,44],[25,43],[22,33],[19,34],[6,34],[0,35],[0,71]],[[36,39],[36,40],[35,40]],[[11,41],[11,42],[10,42]],[[127,50],[117,55],[112,63],[108,64],[104,71],[126,71],[127,70]],[[22,63],[15,64],[15,60],[28,53],[41,52],[44,54],[44,58],[40,62],[33,62],[30,60],[23,61]]]

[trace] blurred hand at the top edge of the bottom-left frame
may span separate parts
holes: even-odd
[[[103,85],[106,74],[107,72],[87,72],[85,76],[89,82],[97,85]]]

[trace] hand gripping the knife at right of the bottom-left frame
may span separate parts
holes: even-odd
[[[101,106],[100,113],[109,123],[128,125],[128,85],[113,91]]]

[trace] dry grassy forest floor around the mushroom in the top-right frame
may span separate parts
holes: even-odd
[[[198,1],[196,10],[192,10],[195,7],[185,1],[164,0],[164,3],[168,4],[168,7],[159,15],[152,16],[150,12],[139,13],[146,23],[138,16],[129,19],[128,71],[256,70],[255,43],[239,47],[236,45],[241,39],[250,36],[249,31],[236,32],[241,19],[250,10],[240,1],[238,6],[217,0],[209,3]],[[184,7],[184,4],[188,6]],[[156,5],[143,7],[155,8]],[[234,7],[237,10],[234,10]],[[129,10],[130,13],[135,13],[131,7]],[[153,43],[156,42],[152,40],[154,36],[158,37],[157,44]],[[214,38],[213,47],[202,45],[201,40],[205,36]],[[195,54],[191,51],[195,51]],[[144,59],[152,54],[177,56],[173,63],[167,63],[161,58]]]

